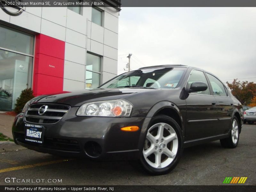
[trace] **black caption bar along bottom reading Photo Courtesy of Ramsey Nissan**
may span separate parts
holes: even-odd
[[[251,192],[256,191],[256,186],[246,186],[243,184],[239,185],[231,185],[231,184],[225,184],[225,185],[219,185],[219,186],[206,186],[206,185],[175,185],[175,186],[156,186],[156,185],[120,185],[120,186],[71,186],[71,185],[59,185],[59,186],[53,186],[53,185],[45,185],[45,186],[36,186],[36,185],[24,185],[24,186],[15,186],[15,185],[9,185],[9,186],[0,186],[1,192],[101,192],[101,191],[108,191],[108,192],[200,192],[200,191],[207,191],[207,192]]]

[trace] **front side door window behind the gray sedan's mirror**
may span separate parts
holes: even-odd
[[[200,92],[193,92],[197,94],[203,94],[203,95],[210,95],[210,89],[209,85],[207,83],[206,77],[204,75],[203,71],[198,71],[198,70],[193,70],[191,71],[189,77],[188,77],[188,83],[187,83],[187,88],[191,86],[192,83],[194,82],[203,82],[207,84],[208,88],[205,91],[200,91]]]

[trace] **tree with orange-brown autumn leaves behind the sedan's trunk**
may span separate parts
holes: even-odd
[[[240,82],[237,81],[237,79],[234,79],[231,84],[228,82],[227,84],[232,94],[242,103],[242,105],[250,104],[253,97],[256,96],[256,84],[253,82]]]

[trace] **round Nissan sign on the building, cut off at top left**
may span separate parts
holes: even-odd
[[[0,7],[12,16],[18,16],[26,9],[23,0],[0,0]]]

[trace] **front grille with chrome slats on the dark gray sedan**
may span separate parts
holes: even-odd
[[[48,108],[43,115],[39,115],[38,110],[46,105]],[[25,115],[25,121],[35,124],[55,124],[68,112],[67,105],[58,104],[32,104]]]

